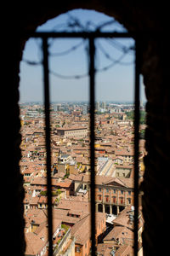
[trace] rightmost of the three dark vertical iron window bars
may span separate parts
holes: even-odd
[[[138,255],[139,229],[139,42],[136,38],[134,89],[134,256]]]

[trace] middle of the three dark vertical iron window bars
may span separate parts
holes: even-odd
[[[91,240],[92,255],[96,254],[95,242],[95,46],[94,38],[89,38],[89,85],[90,85],[90,166],[91,166]]]

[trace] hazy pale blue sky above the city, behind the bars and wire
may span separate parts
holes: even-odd
[[[96,26],[113,20],[111,17],[93,10],[72,10],[68,14],[59,15],[48,20],[37,31],[78,31],[69,24],[75,22],[72,17],[86,29],[94,30]],[[126,31],[119,23],[103,27],[102,31]],[[82,79],[69,79],[88,73],[87,40],[49,39],[49,69],[63,78],[50,73],[51,102],[88,101],[88,76]],[[133,46],[133,39],[96,39],[95,66],[96,101],[133,101],[134,84],[134,52],[125,54],[122,50]],[[75,48],[74,48],[75,47]],[[69,51],[69,49],[71,49]],[[67,51],[68,50],[68,51]],[[63,53],[63,54],[62,54]],[[121,63],[112,65],[121,58]],[[23,60],[41,61],[41,40],[30,38],[24,49]],[[110,67],[104,71],[105,67]],[[102,70],[103,69],[103,70]],[[145,101],[144,85],[141,84],[141,100]],[[20,62],[20,102],[42,102],[42,65],[31,66],[25,61]]]

